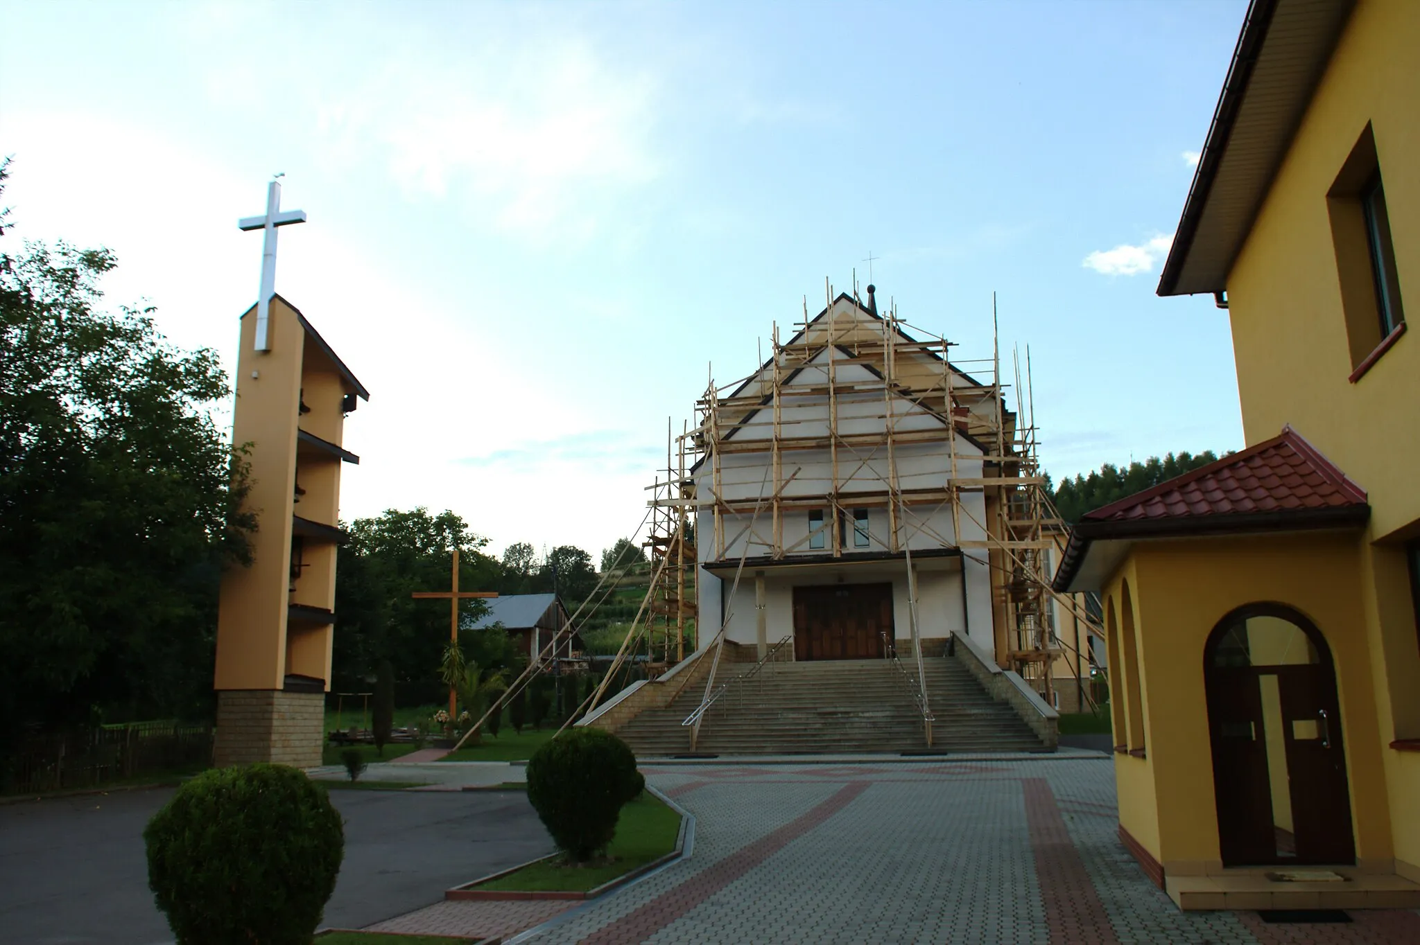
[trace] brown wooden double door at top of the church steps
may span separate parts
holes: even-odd
[[[795,660],[870,660],[893,637],[892,583],[794,589]]]

